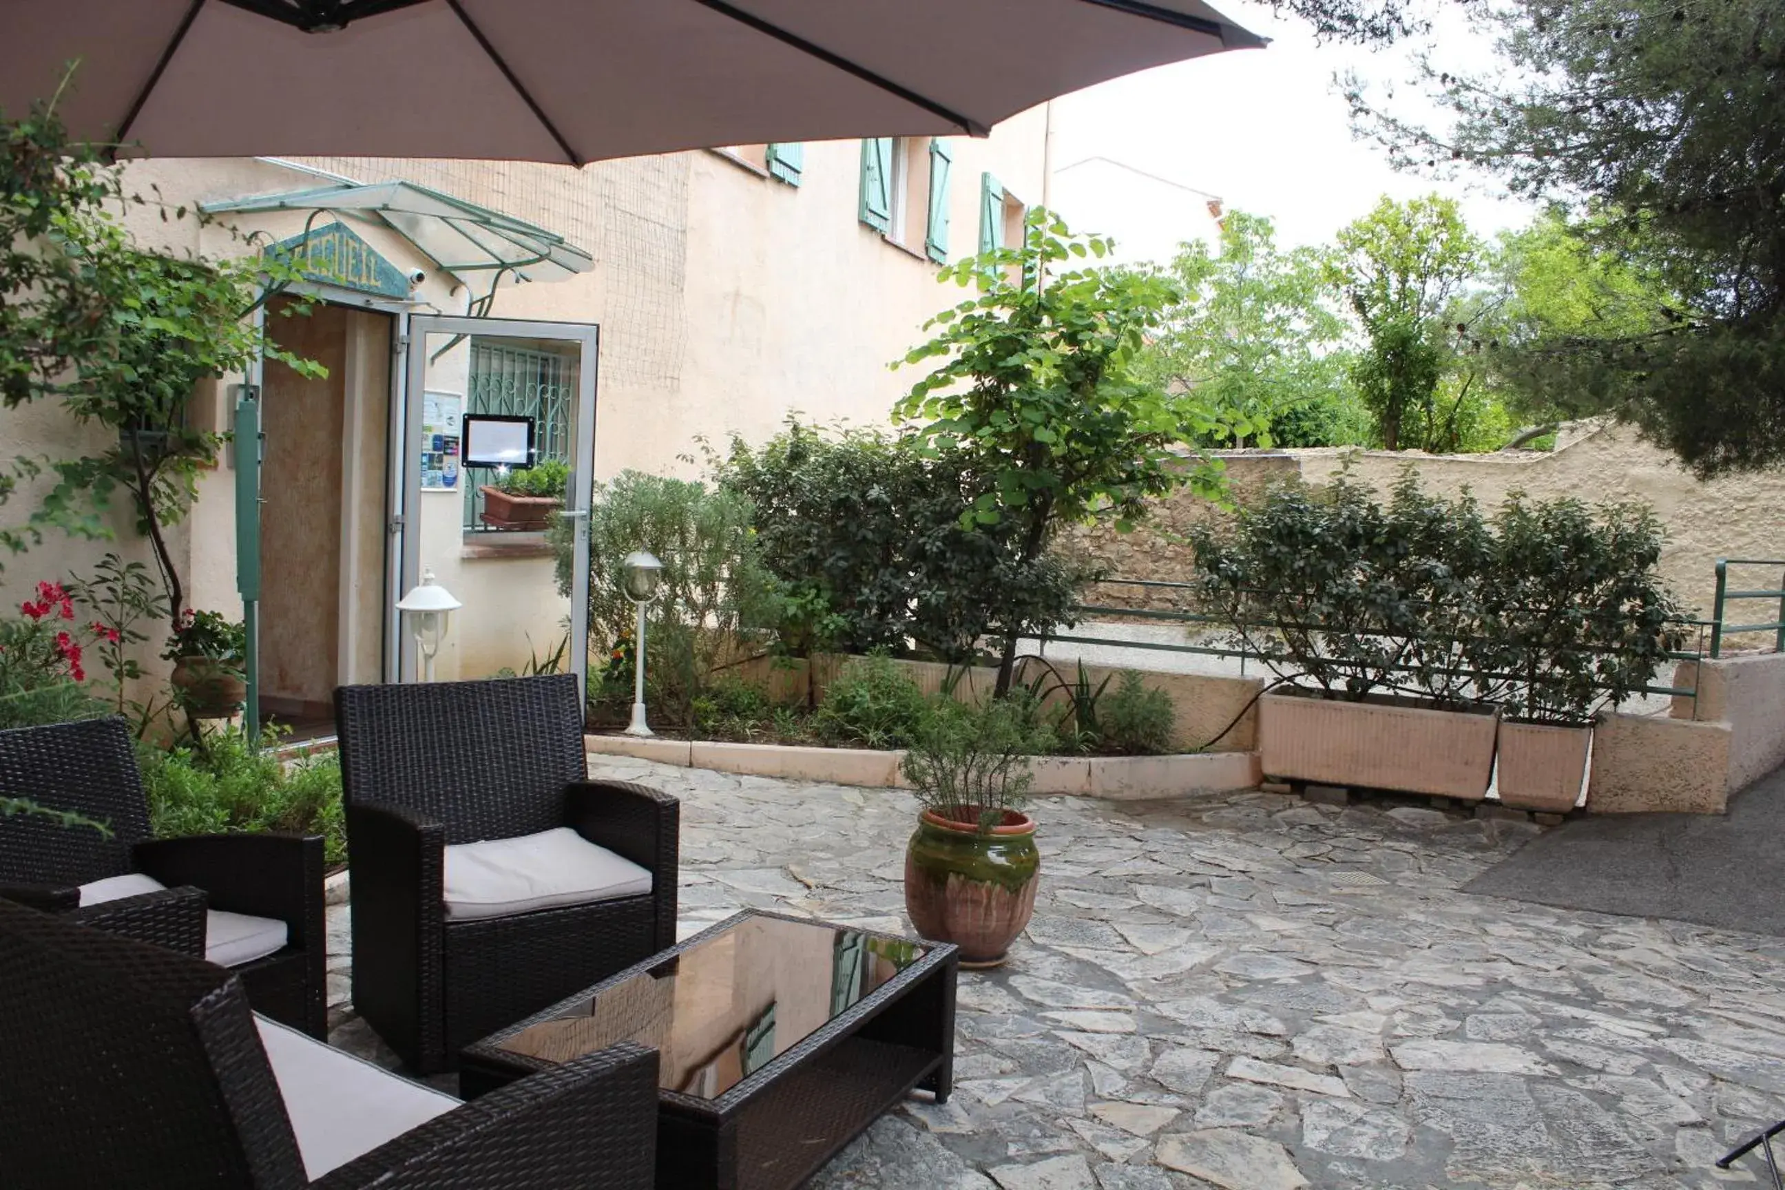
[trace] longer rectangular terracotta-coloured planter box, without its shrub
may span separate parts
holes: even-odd
[[[1258,753],[1269,776],[1480,801],[1494,769],[1496,723],[1492,710],[1266,694]]]

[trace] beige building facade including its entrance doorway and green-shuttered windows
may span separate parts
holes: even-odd
[[[259,398],[262,437],[259,516],[237,514],[253,507],[237,491],[253,453],[230,450],[173,530],[191,605],[241,614],[241,591],[253,583],[237,562],[259,553],[259,708],[287,721],[325,717],[339,683],[414,676],[394,603],[423,573],[464,603],[437,678],[487,676],[550,653],[571,621],[552,551],[543,533],[487,516],[477,489],[493,473],[462,466],[471,442],[461,432],[493,434],[502,417],[523,417],[537,459],[602,482],[628,467],[696,475],[702,441],[762,441],[793,412],[884,425],[912,382],[889,362],[953,300],[935,284],[941,262],[1019,232],[1025,205],[1042,198],[1046,136],[1037,109],[987,139],[757,145],[584,169],[132,164],[130,189],[214,212],[203,223],[130,209],[139,243],[207,255],[277,243],[305,253],[321,298],[307,318],[278,318],[275,303],[270,328],[323,362],[327,378],[268,362],[259,376],[193,394],[193,425],[227,432],[243,382],[257,382],[248,394]],[[478,262],[475,221],[418,232],[407,216],[305,198],[348,182],[407,182],[423,198],[482,211],[489,227],[523,221],[560,237],[575,264],[503,271]],[[453,234],[473,243],[443,266],[439,244]],[[452,321],[464,316],[482,321]],[[473,421],[461,426],[462,417]],[[96,434],[50,401],[0,412],[12,455],[89,453],[102,446]],[[21,483],[0,516],[21,521],[39,496]],[[0,596],[18,603],[39,578],[89,573],[109,550],[148,560],[121,510],[112,530],[114,541],[50,537],[11,558]]]

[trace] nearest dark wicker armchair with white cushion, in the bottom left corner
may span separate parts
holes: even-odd
[[[7,1190],[648,1190],[657,1054],[461,1104],[284,1026],[223,967],[0,903]],[[345,1111],[353,1111],[343,1119]]]

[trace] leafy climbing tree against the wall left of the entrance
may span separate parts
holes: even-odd
[[[93,146],[68,141],[54,100],[21,120],[0,118],[0,401],[12,409],[59,400],[109,442],[96,455],[52,462],[57,483],[0,544],[18,551],[50,526],[109,537],[104,514],[123,492],[154,548],[166,612],[177,617],[186,583],[166,530],[191,508],[198,476],[216,466],[225,441],[195,426],[187,403],[202,380],[261,357],[327,375],[248,321],[300,278],[300,268],[252,252],[209,260],[141,248],[116,212],[148,200],[127,194],[120,169],[102,164]],[[162,207],[161,216],[198,218],[186,207]],[[36,469],[16,460],[0,501]]]

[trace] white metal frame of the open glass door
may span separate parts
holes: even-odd
[[[602,330],[594,323],[544,323],[523,318],[468,318],[457,314],[411,314],[409,325],[402,332],[402,344],[407,353],[403,373],[403,391],[393,407],[402,409],[400,434],[391,435],[391,542],[398,566],[387,567],[398,574],[396,592],[386,599],[386,623],[391,624],[386,639],[394,653],[386,657],[386,676],[396,682],[416,682],[416,651],[405,648],[400,612],[396,601],[405,591],[421,582],[421,533],[414,528],[411,510],[421,508],[421,400],[427,385],[428,335],[496,335],[512,339],[550,339],[557,343],[575,343],[580,350],[577,369],[577,430],[569,485],[564,494],[564,512],[575,525],[575,548],[571,562],[569,591],[569,667],[577,674],[582,689],[589,682],[589,501],[594,492],[594,394],[596,362],[600,359]],[[416,400],[411,400],[414,396]],[[469,394],[466,394],[469,400]],[[461,471],[464,475],[464,471]],[[466,478],[469,482],[469,478]],[[475,608],[466,608],[475,616]],[[462,630],[462,628],[461,628]]]

